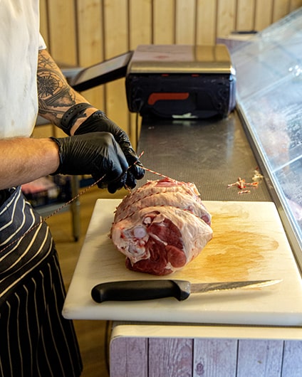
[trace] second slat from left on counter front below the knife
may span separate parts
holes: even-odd
[[[148,377],[192,377],[192,356],[192,339],[149,338]]]

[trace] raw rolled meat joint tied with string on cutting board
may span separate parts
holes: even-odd
[[[211,215],[194,184],[148,181],[116,208],[110,235],[126,255],[127,268],[167,275],[182,269],[212,239]]]

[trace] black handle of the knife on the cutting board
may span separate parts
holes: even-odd
[[[186,280],[125,280],[105,282],[95,285],[91,296],[95,302],[136,301],[175,297],[179,301],[187,299],[190,282]]]

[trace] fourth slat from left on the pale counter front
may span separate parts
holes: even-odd
[[[281,376],[282,353],[282,340],[239,340],[238,376]]]

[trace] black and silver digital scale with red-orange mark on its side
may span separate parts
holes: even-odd
[[[236,73],[227,46],[140,45],[80,70],[75,90],[125,77],[130,112],[163,118],[227,117],[236,103]]]

